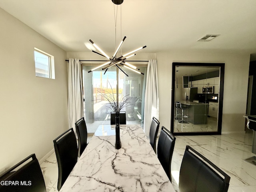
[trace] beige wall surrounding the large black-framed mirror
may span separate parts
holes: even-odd
[[[157,53],[160,126],[170,129],[172,62],[225,63],[222,133],[243,132],[250,54],[220,52]]]

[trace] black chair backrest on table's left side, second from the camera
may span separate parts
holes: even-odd
[[[78,148],[73,128],[62,133],[53,143],[58,162],[59,191],[77,162]]]

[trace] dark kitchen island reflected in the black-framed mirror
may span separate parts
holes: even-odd
[[[191,101],[180,101],[180,103],[182,108],[186,108],[184,109],[184,115],[188,116],[187,118],[184,118],[184,120],[192,124],[207,124],[207,103],[197,103]]]

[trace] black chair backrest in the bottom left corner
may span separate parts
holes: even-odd
[[[44,177],[35,154],[0,176],[1,192],[46,192]]]

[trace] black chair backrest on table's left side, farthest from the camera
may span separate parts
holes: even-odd
[[[75,126],[78,137],[78,157],[80,157],[87,146],[87,128],[84,117],[80,118]]]

